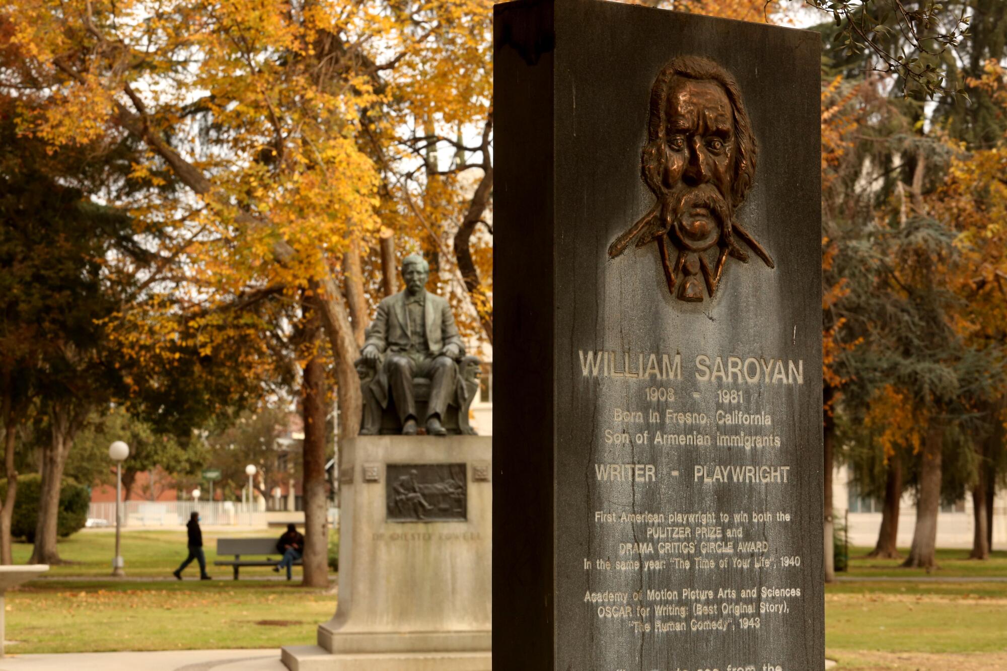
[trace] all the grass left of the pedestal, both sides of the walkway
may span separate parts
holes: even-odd
[[[269,567],[213,566],[220,536],[276,536],[280,530],[203,530],[207,572],[200,581],[193,562],[185,580],[171,571],[185,558],[185,530],[129,531],[122,534],[128,578],[167,580],[87,580],[112,572],[116,536],[107,530],[84,530],[59,542],[68,562],[52,566],[58,579],[34,580],[7,592],[7,640],[11,653],[101,652],[198,648],[277,648],[311,644],[319,623],[335,613],[335,595],[298,586],[294,579],[261,580]],[[14,561],[24,563],[31,546],[14,545]],[[249,578],[249,579],[246,579]],[[335,574],[331,575],[335,583]]]

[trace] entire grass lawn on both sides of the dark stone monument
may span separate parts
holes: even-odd
[[[241,533],[241,532],[239,532]],[[332,617],[335,595],[293,582],[257,580],[268,568],[242,569],[231,579],[213,567],[215,539],[230,531],[204,531],[214,580],[87,580],[111,572],[115,534],[83,531],[61,542],[62,558],[52,567],[57,579],[35,580],[7,593],[7,638],[11,653],[275,648],[310,644],[319,623]],[[271,531],[244,535],[273,535]],[[278,534],[277,534],[278,535]],[[17,544],[15,561],[31,548]],[[866,553],[851,548],[851,556]],[[826,646],[840,669],[856,671],[992,671],[1007,669],[1007,552],[988,562],[965,559],[967,550],[941,550],[938,576],[965,582],[839,582],[826,587]],[[130,531],[123,534],[126,573],[170,576],[185,556],[184,531]],[[895,560],[853,559],[845,575],[923,576],[897,568]],[[244,577],[248,575],[249,580]],[[77,578],[77,579],[75,579]],[[335,575],[332,575],[333,583]]]

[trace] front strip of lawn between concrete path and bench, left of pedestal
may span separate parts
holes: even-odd
[[[315,641],[335,596],[297,583],[36,580],[7,592],[7,652],[279,648]]]

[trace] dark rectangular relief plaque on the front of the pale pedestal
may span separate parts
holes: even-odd
[[[464,522],[464,463],[389,463],[385,482],[389,522]]]

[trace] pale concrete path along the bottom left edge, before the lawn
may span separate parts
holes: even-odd
[[[287,671],[279,650],[172,650],[167,652],[10,655],[0,671]]]

